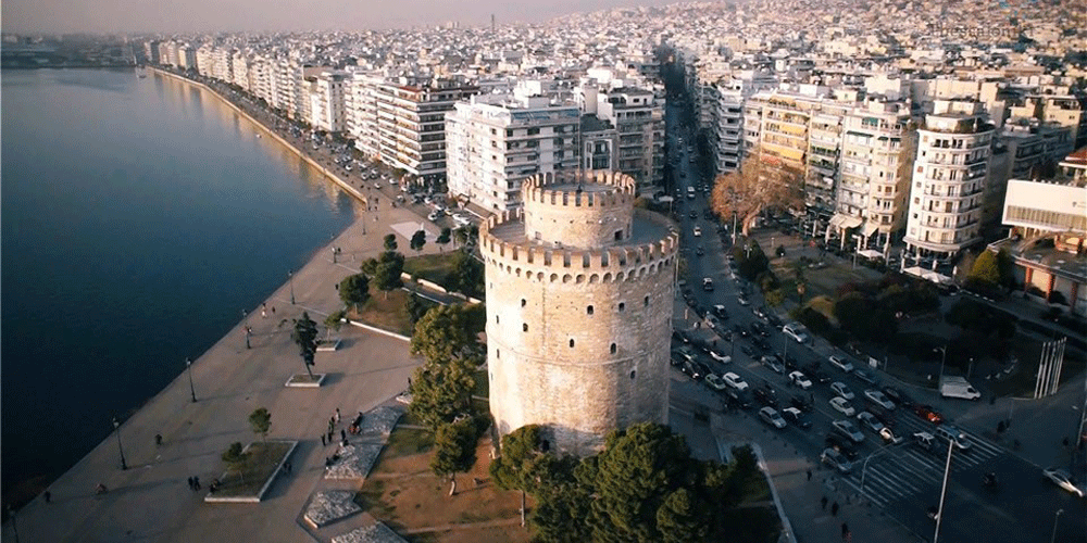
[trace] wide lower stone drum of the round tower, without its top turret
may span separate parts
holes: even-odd
[[[500,433],[544,425],[557,450],[585,455],[614,428],[666,424],[677,236],[572,250],[489,233],[522,219],[520,210],[507,212],[480,229],[490,406]]]

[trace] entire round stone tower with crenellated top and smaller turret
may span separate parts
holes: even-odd
[[[561,453],[667,424],[678,236],[635,210],[617,173],[545,174],[480,227],[490,411],[499,433],[541,425]]]

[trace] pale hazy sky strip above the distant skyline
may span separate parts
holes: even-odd
[[[128,33],[410,28],[540,22],[676,0],[2,0],[3,31]]]

